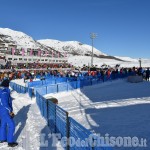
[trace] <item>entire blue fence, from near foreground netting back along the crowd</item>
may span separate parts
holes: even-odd
[[[103,78],[80,78],[78,81],[64,82],[59,84],[47,85],[42,87],[34,87],[34,92],[36,92],[36,102],[40,109],[42,116],[46,119],[47,125],[50,127],[51,132],[60,133],[63,137],[73,137],[75,140],[81,139],[86,141],[91,137],[90,143],[85,146],[77,146],[76,144],[71,145],[70,140],[68,140],[68,145],[64,147],[67,150],[112,150],[108,145],[95,145],[94,141],[98,140],[98,137],[93,135],[89,130],[84,128],[81,124],[76,122],[73,118],[69,117],[68,112],[63,110],[61,107],[52,103],[51,101],[45,99],[43,95],[48,93],[58,93],[62,91],[74,90],[77,88],[82,88],[83,86],[89,86],[97,84],[101,81],[111,81],[118,78],[127,77],[130,74],[113,74],[111,76],[104,76]],[[47,81],[40,81],[39,83],[46,83]],[[57,83],[57,82],[55,82]],[[38,85],[38,84],[37,84]],[[17,85],[16,83],[10,83],[10,86],[19,93],[27,91],[26,87]],[[28,88],[30,97],[33,95],[33,89]]]

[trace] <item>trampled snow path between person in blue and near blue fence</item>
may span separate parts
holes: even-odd
[[[59,145],[52,147],[51,132],[40,114],[35,99],[31,100],[27,94],[18,94],[15,91],[12,91],[11,95],[16,114],[15,139],[19,146],[9,148],[7,143],[4,143],[0,144],[0,150],[62,150]]]

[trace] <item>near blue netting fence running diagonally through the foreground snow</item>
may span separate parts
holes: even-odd
[[[94,140],[98,140],[89,130],[81,124],[69,117],[68,112],[61,107],[46,100],[39,91],[36,92],[36,101],[42,116],[46,119],[47,124],[52,133],[60,133],[61,137],[67,138],[67,144],[64,146],[66,150],[112,150],[110,146],[96,145]],[[97,137],[97,138],[96,138]],[[80,140],[86,142],[84,145],[72,143]]]

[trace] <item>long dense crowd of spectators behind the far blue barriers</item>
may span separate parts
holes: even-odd
[[[150,70],[149,68],[88,68],[88,67],[82,67],[82,68],[74,68],[73,66],[67,70],[62,69],[62,66],[55,68],[51,70],[50,68],[47,68],[46,70],[22,70],[17,71],[15,69],[12,69],[8,72],[0,71],[0,82],[3,81],[5,75],[9,77],[9,80],[13,79],[21,79],[24,78],[24,80],[29,79],[32,81],[35,78],[40,78],[43,80],[45,77],[48,76],[54,76],[54,77],[79,77],[79,76],[92,76],[103,79],[106,75],[107,78],[114,78],[115,75],[140,75],[143,76],[143,79],[149,81],[149,75]]]

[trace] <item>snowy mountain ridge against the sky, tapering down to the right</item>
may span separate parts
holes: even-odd
[[[34,40],[31,36],[21,31],[15,31],[9,28],[0,28],[0,48],[2,46],[15,46],[18,49],[41,49],[54,50],[60,53],[67,53],[70,56],[92,56],[92,46],[79,41],[59,41],[54,39]],[[101,59],[114,59],[118,61],[130,61],[129,57],[109,56],[93,47],[94,57]],[[124,59],[125,58],[125,59]]]

